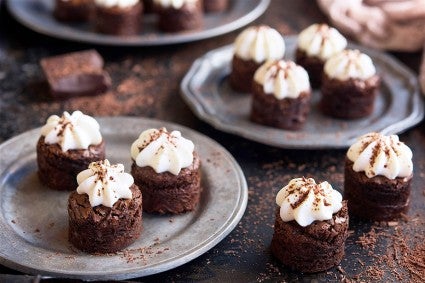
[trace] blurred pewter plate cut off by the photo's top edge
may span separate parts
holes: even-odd
[[[64,23],[53,17],[54,0],[9,0],[10,13],[21,24],[56,38],[78,42],[117,45],[153,46],[190,42],[222,35],[241,28],[261,16],[270,0],[233,0],[225,12],[204,16],[199,30],[164,33],[156,27],[156,15],[143,15],[143,28],[135,36],[114,36],[97,33],[88,23]]]

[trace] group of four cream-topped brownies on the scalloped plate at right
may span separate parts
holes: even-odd
[[[347,40],[326,24],[303,30],[295,62],[285,60],[285,41],[275,29],[261,25],[242,31],[234,42],[229,84],[252,94],[252,121],[300,130],[310,111],[312,88],[320,88],[319,108],[341,119],[369,116],[380,86],[372,59],[346,49]]]

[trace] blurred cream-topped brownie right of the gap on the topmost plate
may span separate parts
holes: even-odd
[[[158,27],[165,32],[199,29],[203,25],[202,0],[154,0]]]

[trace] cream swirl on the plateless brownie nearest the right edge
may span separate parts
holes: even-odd
[[[364,171],[369,178],[403,178],[413,172],[412,150],[397,135],[365,134],[348,149],[347,157],[354,163],[354,171]]]

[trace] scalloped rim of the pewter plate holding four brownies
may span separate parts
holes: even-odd
[[[285,40],[295,41],[297,37],[298,37],[297,35],[287,35],[285,36]],[[399,72],[406,74],[406,78],[408,78],[409,84],[413,86],[413,90],[411,91],[411,97],[409,98],[411,100],[409,105],[412,107],[412,110],[409,113],[409,115],[394,124],[388,125],[384,128],[376,129],[376,131],[379,131],[386,135],[398,134],[415,126],[420,121],[422,121],[422,119],[424,118],[424,101],[423,101],[423,97],[420,94],[417,76],[414,75],[413,71],[410,68],[408,68],[406,65],[404,65],[402,62],[397,60],[391,54],[374,50],[374,49],[371,49],[353,42],[349,42],[349,46],[350,48],[352,47],[352,48],[360,49],[362,50],[362,52],[366,52],[367,54],[372,55],[373,57],[380,57],[380,58],[384,57],[388,64],[390,64],[393,67],[396,66]],[[193,62],[188,72],[185,74],[185,76],[183,77],[181,81],[180,95],[183,98],[183,100],[186,102],[186,104],[189,106],[189,108],[192,110],[192,112],[199,119],[207,122],[208,124],[212,125],[214,128],[221,130],[223,132],[235,134],[261,144],[270,145],[270,146],[279,147],[279,148],[285,148],[285,149],[306,149],[306,150],[345,149],[349,147],[355,141],[355,138],[351,138],[339,144],[310,143],[308,146],[303,144],[285,143],[285,141],[276,142],[273,139],[263,139],[261,137],[258,137],[255,134],[251,134],[250,131],[247,131],[246,129],[242,128],[239,125],[224,123],[223,121],[221,121],[219,117],[209,113],[209,111],[205,109],[205,106],[203,105],[203,103],[198,101],[197,95],[195,95],[192,92],[192,89],[190,87],[192,78],[199,71],[202,64],[209,60],[208,59],[209,57],[223,51],[230,52],[230,49],[232,48],[233,48],[233,44],[228,44],[216,49],[212,49],[206,52],[201,57],[198,57]],[[255,126],[260,127],[262,129],[270,128],[260,124],[255,124]],[[274,128],[274,130],[280,130],[282,133],[288,133],[288,134],[297,133],[296,131],[289,131],[289,130],[276,129],[276,128]]]

